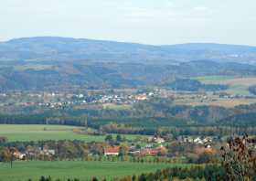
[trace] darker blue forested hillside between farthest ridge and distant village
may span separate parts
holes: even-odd
[[[256,66],[214,61],[191,61],[179,65],[138,63],[0,61],[0,90],[65,90],[70,88],[110,89],[182,84],[182,79],[211,76],[253,76]],[[194,80],[195,81],[195,80]],[[191,82],[191,81],[189,81]],[[222,90],[193,84],[194,90]],[[179,90],[179,89],[178,89]],[[184,89],[183,89],[184,90]]]

